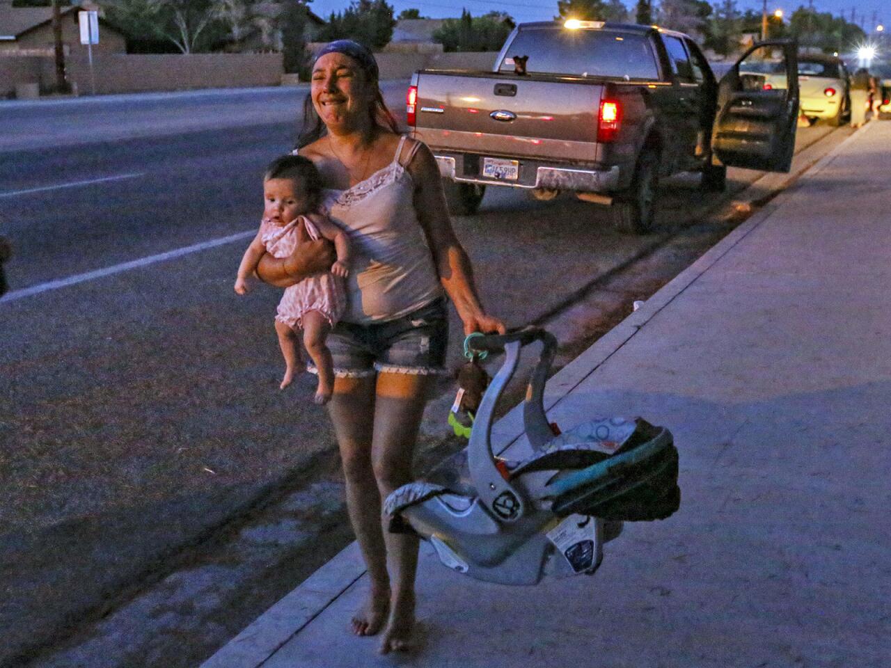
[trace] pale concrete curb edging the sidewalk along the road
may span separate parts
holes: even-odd
[[[870,126],[871,124],[862,126],[813,165],[805,167],[797,175],[789,175],[784,183],[787,185],[790,182],[795,183],[792,183],[788,190],[781,191],[763,209],[718,241],[715,246],[708,249],[702,257],[675,276],[672,281],[658,289],[643,303],[641,308],[628,315],[625,320],[619,322],[616,327],[609,330],[591,347],[578,355],[575,360],[556,373],[545,388],[545,411],[551,411],[575,387],[584,382],[584,379],[591,376],[602,363],[609,360],[613,354],[616,354],[628,341],[634,338],[634,335],[655,318],[662,309],[671,304],[675,297],[681,295],[749,233],[755,231],[757,227],[773,216],[778,208],[795,195],[797,182],[800,179],[819,174],[838,157],[838,153],[854,137],[868,132]],[[768,177],[769,175],[765,175],[751,183],[740,194],[756,191],[757,184]],[[492,427],[492,440],[504,444],[496,454],[501,454],[511,445],[516,444],[523,434],[522,404],[518,404]],[[364,573],[365,566],[358,544],[352,542],[335,558],[332,558],[315,574],[307,578],[305,582],[299,584],[263,615],[257,617],[247,628],[201,664],[200,668],[257,668],[264,664],[266,659],[306,628],[307,624],[331,605],[331,602],[356,584]]]

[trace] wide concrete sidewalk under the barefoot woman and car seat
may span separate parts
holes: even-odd
[[[593,577],[491,585],[422,544],[421,651],[381,657],[347,632],[354,544],[204,668],[887,666],[889,165],[870,123],[551,380],[560,425],[641,415],[681,452],[681,509]]]

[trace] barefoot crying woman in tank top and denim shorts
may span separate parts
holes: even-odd
[[[504,325],[480,305],[436,159],[398,134],[372,53],[348,40],[327,45],[316,56],[305,111],[299,154],[322,173],[328,213],[355,249],[347,314],[328,338],[336,373],[329,413],[371,581],[352,628],[357,635],[383,629],[380,652],[388,653],[410,647],[418,539],[387,532],[381,499],[412,480],[431,376],[445,363],[444,290],[466,334],[503,333]],[[299,257],[264,257],[260,276],[282,286],[327,268],[323,248],[305,248]]]

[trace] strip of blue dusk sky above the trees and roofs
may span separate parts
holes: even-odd
[[[450,18],[461,15],[462,7],[470,10],[474,16],[485,14],[486,12],[498,11],[508,12],[518,21],[529,20],[552,20],[557,15],[556,0],[520,0],[519,2],[510,2],[510,0],[388,0],[396,9],[396,14],[404,9],[414,7],[421,10],[422,16],[429,16],[431,19]],[[625,2],[626,6],[633,3]],[[782,9],[785,12],[794,11],[802,3],[801,0],[794,2],[782,2],[781,0],[768,0],[768,11],[774,9]],[[882,5],[885,6],[883,11]],[[340,12],[349,6],[348,0],[313,0],[309,5],[316,14],[323,17],[328,16],[331,12]],[[758,0],[738,0],[737,6],[745,11],[748,8],[760,10],[761,3]],[[891,8],[887,7],[887,0],[813,0],[813,8],[818,12],[845,12],[845,16],[850,20],[851,8],[856,7],[857,22],[860,23],[860,17],[865,16],[862,27],[867,33],[871,33],[874,26],[871,26],[872,14],[877,13],[879,22],[883,20],[891,21]],[[883,14],[887,14],[884,16]]]

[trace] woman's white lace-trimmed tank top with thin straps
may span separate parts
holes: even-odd
[[[443,294],[433,255],[414,210],[414,182],[399,140],[393,161],[345,191],[324,191],[324,212],[350,241],[347,310],[359,324],[395,320]]]

